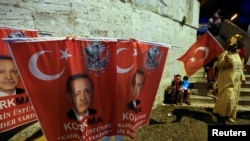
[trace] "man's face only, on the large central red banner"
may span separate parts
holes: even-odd
[[[87,114],[93,96],[93,86],[88,78],[78,78],[71,83],[71,101],[78,115]]]

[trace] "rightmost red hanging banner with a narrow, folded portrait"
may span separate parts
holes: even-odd
[[[148,125],[167,53],[168,48],[160,44],[135,40],[117,42],[116,134],[134,139],[135,130]]]

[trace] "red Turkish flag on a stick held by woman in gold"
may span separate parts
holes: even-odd
[[[177,60],[183,62],[187,75],[191,76],[222,51],[223,48],[211,33],[206,32]]]

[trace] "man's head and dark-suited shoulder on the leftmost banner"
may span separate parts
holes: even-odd
[[[22,94],[24,89],[17,88],[18,70],[10,56],[0,55],[0,97]]]

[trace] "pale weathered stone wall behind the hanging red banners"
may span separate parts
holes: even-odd
[[[39,36],[135,38],[171,45],[155,105],[173,74],[184,75],[176,61],[196,40],[197,0],[1,0],[0,26],[30,28]]]

